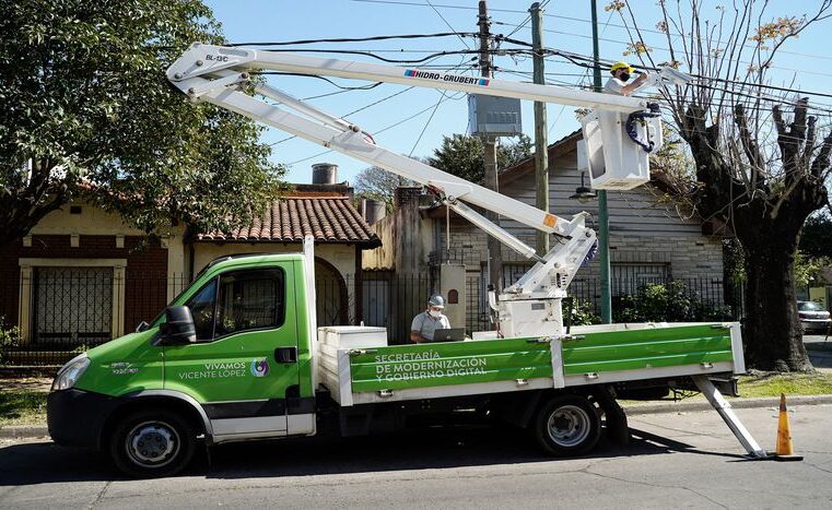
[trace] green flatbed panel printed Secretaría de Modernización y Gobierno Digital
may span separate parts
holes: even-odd
[[[391,345],[350,358],[352,391],[552,377],[548,343],[526,339]]]

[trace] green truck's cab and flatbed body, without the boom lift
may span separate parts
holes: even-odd
[[[742,371],[735,323],[408,345],[387,345],[383,328],[316,329],[306,246],[219,259],[150,324],[68,363],[48,398],[55,441],[160,476],[198,441],[365,435],[466,411],[573,455],[596,444],[602,414],[620,416],[616,391]]]

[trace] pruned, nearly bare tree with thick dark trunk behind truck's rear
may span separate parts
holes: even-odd
[[[802,16],[773,19],[769,7],[747,1],[705,11],[694,0],[660,1],[651,22],[624,1],[607,9],[621,14],[626,51],[643,66],[669,64],[699,76],[695,84],[663,87],[660,99],[695,162],[689,189],[700,216],[730,226],[742,247],[749,365],[808,370],[794,268],[806,218],[829,204],[832,133],[811,115],[808,98],[778,95],[766,76],[786,41],[832,15],[832,0],[812,3]],[[655,22],[669,48],[667,62],[656,61],[642,38],[644,23]]]

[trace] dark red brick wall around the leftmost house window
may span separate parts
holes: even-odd
[[[159,241],[127,236],[125,247],[116,248],[116,236],[82,235],[72,248],[68,235],[35,235],[31,247],[0,247],[0,316],[7,323],[17,323],[21,258],[126,259],[125,331],[155,317],[166,303],[167,249]]]

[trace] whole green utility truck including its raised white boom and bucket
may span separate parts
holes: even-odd
[[[190,99],[420,182],[438,205],[534,265],[513,285],[489,292],[494,331],[460,342],[387,345],[383,328],[317,328],[310,237],[302,254],[218,260],[150,324],[58,372],[47,410],[56,442],[106,449],[121,470],[160,476],[183,469],[198,440],[353,436],[466,412],[530,430],[548,453],[573,455],[596,444],[602,415],[610,430],[626,435],[616,395],[695,387],[746,450],[765,456],[712,382],[745,371],[738,324],[563,328],[561,301],[595,252],[586,213],[558,217],[385,150],[361,127],[250,81],[263,70],[595,108],[598,115],[583,127],[595,188],[645,182],[645,151],[661,145],[656,108],[635,97],[195,43],[167,70]],[[473,117],[480,132],[500,130],[491,117]],[[462,202],[552,236],[552,249],[538,254]]]

